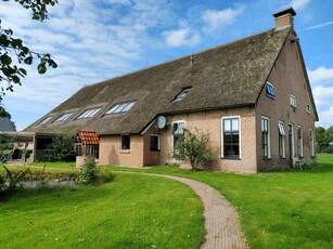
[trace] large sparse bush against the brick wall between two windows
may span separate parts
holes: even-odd
[[[183,134],[179,134],[175,150],[177,158],[188,161],[193,170],[198,170],[205,162],[214,161],[217,155],[209,150],[209,134],[200,132],[195,133],[185,129]]]

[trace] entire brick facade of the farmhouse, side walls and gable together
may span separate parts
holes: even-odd
[[[310,152],[310,130],[315,132],[315,106],[311,104],[310,91],[306,83],[306,73],[302,65],[298,44],[292,42],[290,35],[285,41],[276,65],[268,78],[273,86],[276,96],[269,97],[264,87],[255,106],[223,108],[219,110],[195,112],[166,116],[167,126],[158,130],[155,122],[143,134],[130,135],[130,149],[121,150],[120,135],[100,137],[100,165],[118,166],[157,166],[175,161],[172,159],[171,124],[184,121],[185,128],[198,129],[210,135],[210,148],[218,155],[215,169],[238,173],[256,173],[271,168],[286,168],[292,163],[292,157],[298,158],[303,147],[302,160],[310,163],[315,161],[315,154]],[[296,99],[296,108],[290,104],[291,94]],[[307,108],[309,105],[309,109]],[[310,110],[310,112],[308,112]],[[222,155],[222,118],[240,118],[240,158],[226,159]],[[269,158],[262,156],[261,118],[269,118]],[[284,127],[284,156],[280,157],[279,127]],[[294,136],[289,135],[289,128],[293,126]],[[302,127],[303,144],[299,145],[297,127]],[[150,135],[159,135],[159,150],[150,150]],[[281,143],[281,142],[280,142]],[[294,155],[290,155],[293,144]],[[312,140],[315,145],[315,139]],[[313,148],[315,150],[315,148]],[[312,154],[312,155],[311,155]]]

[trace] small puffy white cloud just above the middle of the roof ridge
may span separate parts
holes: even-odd
[[[193,47],[200,42],[200,36],[190,27],[164,31],[163,35],[169,47]]]

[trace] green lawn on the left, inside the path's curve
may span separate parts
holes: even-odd
[[[172,180],[115,173],[95,186],[0,198],[1,248],[198,248],[203,206]]]

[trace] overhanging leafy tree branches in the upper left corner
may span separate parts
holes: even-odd
[[[10,0],[2,1],[8,2]],[[33,19],[42,22],[48,18],[47,6],[53,6],[57,3],[57,0],[15,0],[15,2],[20,3],[24,9],[29,9],[33,12]],[[44,74],[47,67],[57,67],[50,54],[31,51],[24,44],[22,39],[14,38],[13,35],[12,29],[1,27],[0,19],[0,83],[7,83],[7,87],[1,86],[2,94],[4,94],[4,90],[13,91],[13,83],[21,86],[21,78],[27,76],[26,69],[13,63],[13,57],[18,64],[26,65],[31,65],[37,60],[39,74]]]

